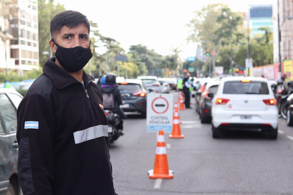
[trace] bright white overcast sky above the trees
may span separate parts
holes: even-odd
[[[79,11],[98,23],[100,33],[112,37],[128,51],[143,44],[161,55],[180,47],[181,57],[195,56],[196,44],[186,43],[185,27],[194,11],[212,3],[228,4],[234,11],[247,12],[249,5],[275,4],[277,0],[55,0],[67,10]]]

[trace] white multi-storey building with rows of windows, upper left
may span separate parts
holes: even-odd
[[[38,69],[38,1],[17,0],[18,9],[12,11],[10,31],[10,57],[15,60],[15,69],[20,74],[24,70]]]

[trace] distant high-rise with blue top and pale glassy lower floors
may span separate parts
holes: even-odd
[[[249,9],[252,37],[258,38],[265,33],[261,27],[269,27],[273,31],[272,5],[252,5]]]

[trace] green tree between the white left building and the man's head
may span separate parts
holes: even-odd
[[[43,52],[50,53],[50,22],[57,13],[62,11],[65,11],[64,5],[59,3],[54,5],[54,0],[38,0],[40,66],[43,66],[48,57],[50,57],[42,54]]]

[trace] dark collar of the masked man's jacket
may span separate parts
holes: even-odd
[[[56,88],[62,89],[72,83],[79,82],[69,73],[60,68],[55,63],[55,61],[55,57],[47,59],[43,67],[43,72],[51,79]],[[84,81],[85,87],[88,85],[89,82],[95,80],[91,75],[87,74],[85,71],[83,71],[82,79]]]

